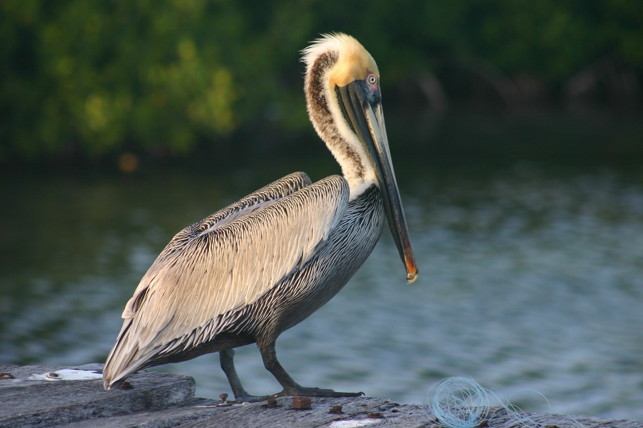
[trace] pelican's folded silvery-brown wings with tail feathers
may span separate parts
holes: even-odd
[[[266,191],[273,183],[174,237],[123,311],[105,367],[114,366],[112,383],[159,352],[208,341],[217,317],[257,301],[314,256],[343,216],[349,187],[338,175],[307,185],[298,174],[275,182],[289,179],[285,191],[283,183]]]

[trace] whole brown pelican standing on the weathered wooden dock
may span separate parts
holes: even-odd
[[[257,343],[284,390],[303,388],[277,361],[276,338],[329,301],[381,235],[385,215],[413,282],[417,268],[389,157],[375,61],[352,37],[325,35],[303,50],[309,116],[341,165],[311,183],[296,172],[180,231],[123,310],[104,368],[105,389],[134,371],[219,352],[235,398],[243,388],[233,348]]]

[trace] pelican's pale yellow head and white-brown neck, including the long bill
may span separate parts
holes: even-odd
[[[390,159],[377,64],[356,39],[341,33],[314,41],[303,50],[303,62],[312,125],[340,164],[350,199],[372,183],[379,186],[406,278],[412,283],[417,267]]]

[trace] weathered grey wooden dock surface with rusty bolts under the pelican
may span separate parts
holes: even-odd
[[[100,370],[101,364],[71,367]],[[219,400],[194,397],[194,379],[167,373],[138,373],[131,389],[104,391],[102,381],[43,380],[40,375],[62,367],[0,366],[0,427],[355,427],[437,428],[427,406],[401,405],[383,398],[312,398],[311,409],[293,409],[293,397],[280,397],[277,407],[265,402],[217,406]],[[341,406],[342,413],[331,413]],[[514,421],[503,409],[492,409],[492,428],[643,428],[641,420],[527,413]],[[481,425],[481,426],[484,426]]]

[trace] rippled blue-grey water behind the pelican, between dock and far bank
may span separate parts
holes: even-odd
[[[422,403],[468,376],[529,411],[643,418],[643,172],[400,169],[419,280],[405,283],[386,228],[347,287],[280,337],[294,379]],[[104,361],[174,233],[287,172],[5,180],[0,362]],[[250,393],[280,390],[254,345],[236,361]],[[229,392],[217,355],[161,370],[195,377],[201,397]]]

